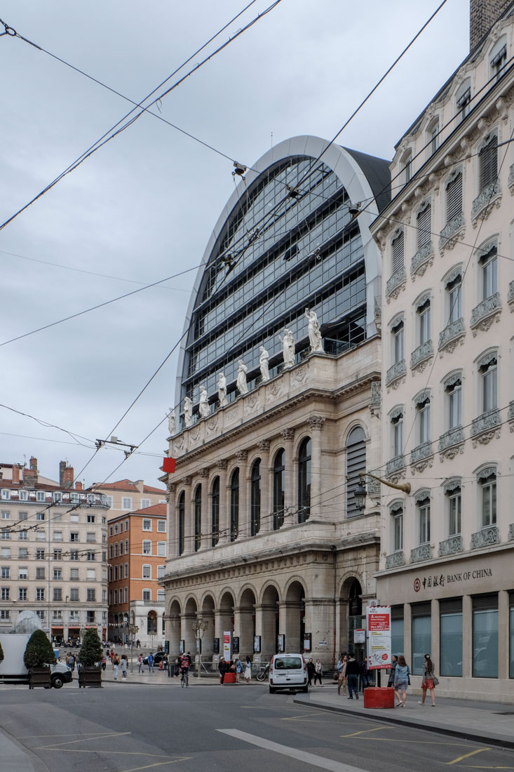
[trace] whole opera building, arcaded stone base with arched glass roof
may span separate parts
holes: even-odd
[[[353,489],[380,465],[381,265],[369,226],[389,172],[317,137],[279,144],[254,170],[236,167],[245,181],[185,322],[168,438],[177,469],[161,478],[165,637],[171,652],[194,652],[201,618],[207,659],[228,631],[240,655],[305,650],[330,665],[359,648],[353,628],[375,597],[378,506],[357,510]],[[314,346],[306,308],[319,317]],[[282,334],[296,340],[287,352]]]

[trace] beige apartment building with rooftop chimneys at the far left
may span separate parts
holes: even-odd
[[[59,464],[59,482],[29,466],[0,464],[0,631],[21,611],[36,611],[57,642],[88,628],[107,634],[107,500],[73,485],[73,467]]]

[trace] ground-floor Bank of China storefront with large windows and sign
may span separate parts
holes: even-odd
[[[491,548],[460,560],[377,574],[391,604],[393,653],[404,653],[420,687],[430,653],[444,696],[511,702],[514,696],[514,553]]]

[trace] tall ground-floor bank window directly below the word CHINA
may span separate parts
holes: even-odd
[[[473,601],[473,678],[498,678],[498,594]]]

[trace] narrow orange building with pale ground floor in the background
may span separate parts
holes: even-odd
[[[127,625],[139,628],[142,646],[164,642],[164,576],[167,547],[166,505],[155,504],[109,520],[109,640],[127,642]]]

